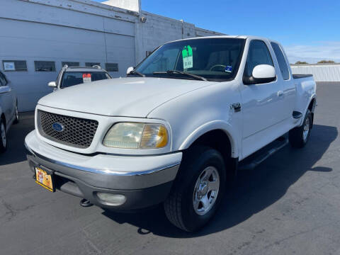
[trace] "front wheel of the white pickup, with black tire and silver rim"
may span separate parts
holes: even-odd
[[[176,227],[195,232],[215,215],[225,192],[225,162],[220,152],[194,147],[183,155],[179,176],[164,202]]]

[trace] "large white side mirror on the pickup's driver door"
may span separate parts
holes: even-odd
[[[244,77],[243,83],[264,84],[276,80],[276,70],[269,64],[259,64],[254,67],[251,77]]]

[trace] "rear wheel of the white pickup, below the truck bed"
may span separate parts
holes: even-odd
[[[312,129],[312,121],[312,113],[310,110],[307,110],[302,125],[289,131],[289,142],[292,147],[302,148],[307,145],[310,138],[310,130]]]

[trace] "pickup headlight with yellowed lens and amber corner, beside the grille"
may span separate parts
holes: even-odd
[[[103,145],[122,149],[155,149],[165,147],[168,132],[162,124],[117,123],[108,130]]]

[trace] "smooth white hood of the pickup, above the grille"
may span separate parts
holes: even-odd
[[[42,106],[108,116],[145,118],[166,101],[215,84],[212,81],[128,77],[60,89],[40,99]]]

